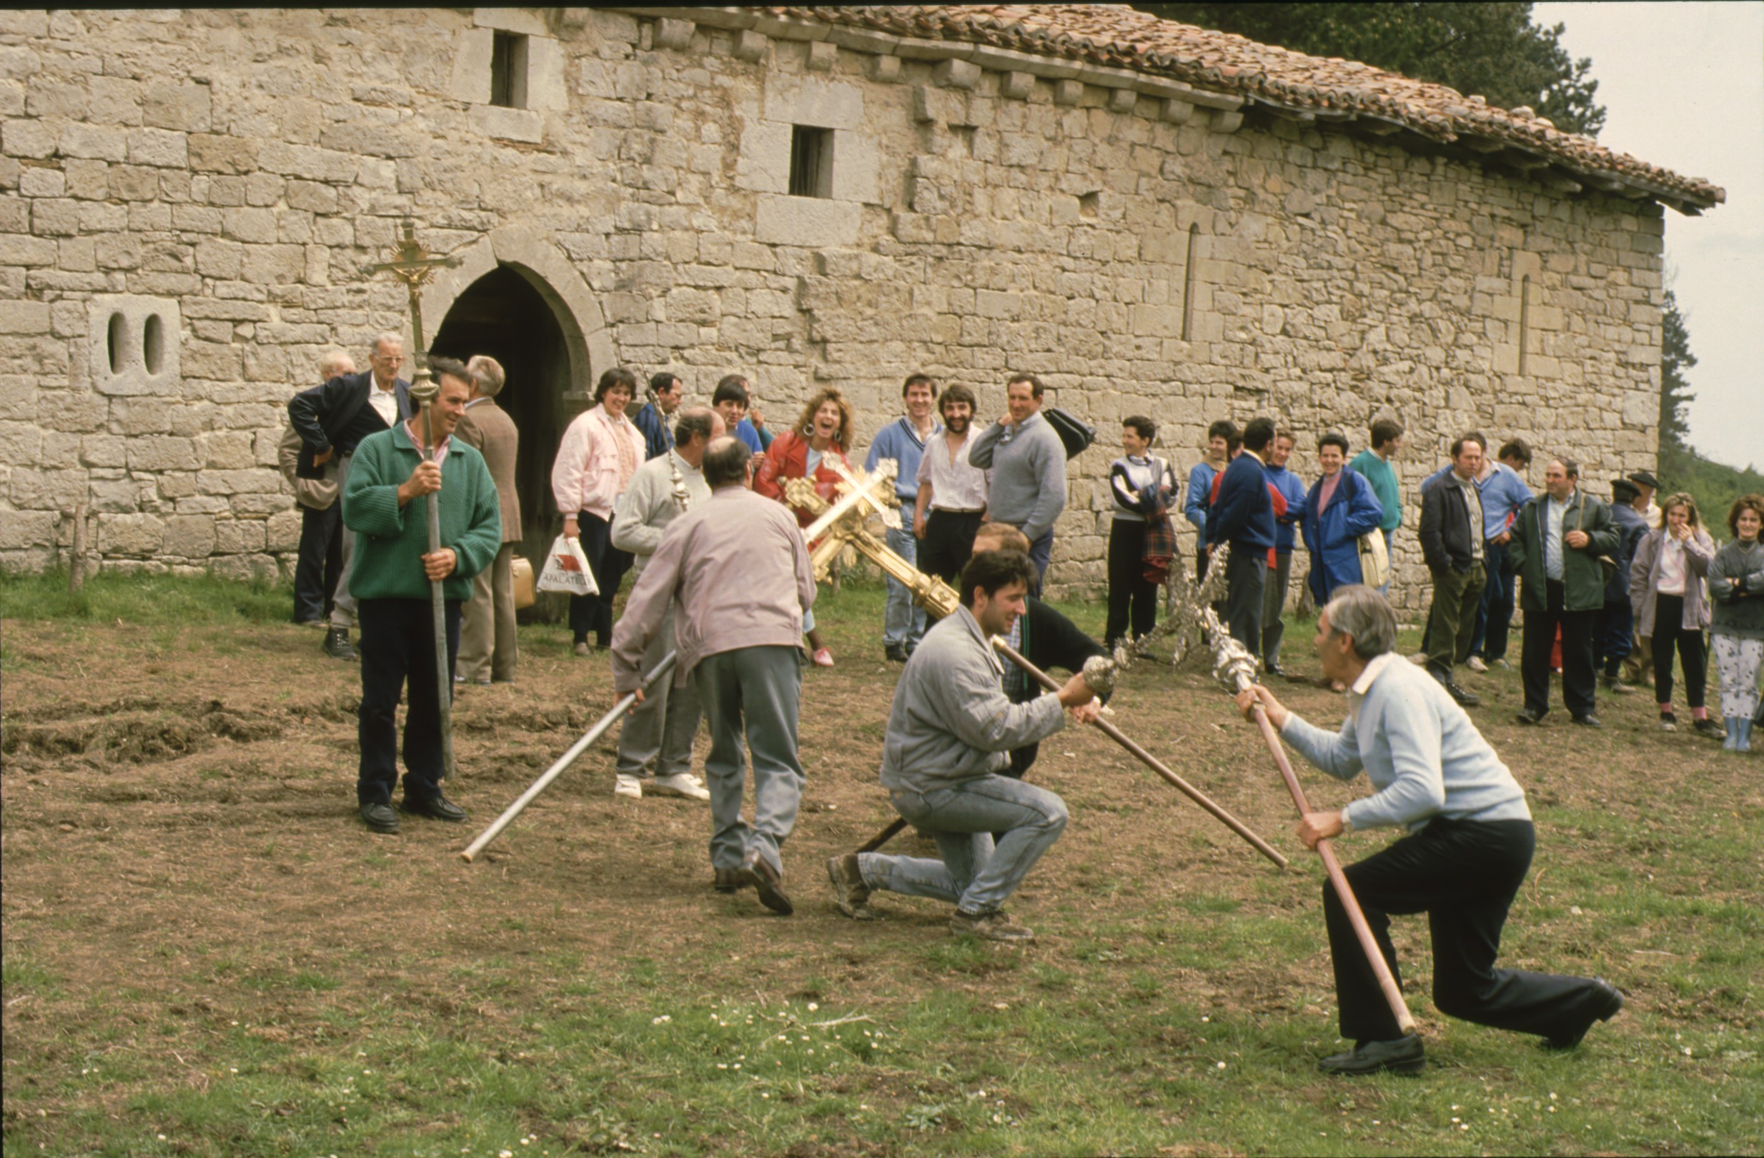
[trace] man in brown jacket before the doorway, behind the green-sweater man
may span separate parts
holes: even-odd
[[[473,377],[471,400],[466,402],[466,414],[453,428],[453,437],[476,448],[490,467],[503,508],[503,550],[496,552],[496,560],[473,580],[471,603],[466,605],[459,633],[453,679],[469,684],[489,684],[492,679],[497,684],[510,684],[515,679],[515,661],[520,657],[515,642],[515,583],[510,573],[515,543],[520,541],[520,495],[515,494],[515,451],[520,446],[520,432],[515,428],[515,419],[496,405],[505,379],[501,363],[478,354],[466,363],[466,368]]]

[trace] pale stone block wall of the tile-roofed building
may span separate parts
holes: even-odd
[[[496,30],[529,37],[526,108],[487,104]],[[861,451],[908,372],[986,416],[1009,370],[1041,375],[1101,430],[1060,587],[1102,582],[1132,412],[1184,471],[1207,423],[1272,414],[1307,476],[1325,430],[1358,449],[1399,416],[1409,610],[1416,488],[1459,432],[1596,483],[1653,465],[1660,206],[1154,78],[804,35],[600,9],[0,14],[0,564],[62,560],[85,501],[104,566],[291,568],[282,405],[325,349],[360,361],[406,324],[362,271],[406,217],[443,252],[543,249],[520,261],[557,270],[579,384],[616,360],[704,398],[739,368],[776,427],[836,384]],[[831,196],[789,194],[796,125],[831,134]],[[430,331],[460,289],[429,293]]]

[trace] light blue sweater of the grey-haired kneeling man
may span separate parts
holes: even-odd
[[[1348,691],[1348,719],[1325,731],[1289,714],[1281,737],[1339,781],[1362,768],[1376,795],[1341,811],[1351,828],[1446,820],[1531,820],[1526,791],[1445,687],[1395,652]]]

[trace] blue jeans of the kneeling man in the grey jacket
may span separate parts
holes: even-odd
[[[896,791],[893,800],[896,813],[937,841],[944,858],[857,853],[864,885],[949,901],[963,913],[998,909],[1065,832],[1064,800],[1004,776],[977,776],[924,793]],[[997,848],[993,832],[1004,832]]]

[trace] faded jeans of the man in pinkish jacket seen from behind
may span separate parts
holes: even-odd
[[[737,647],[699,661],[693,687],[711,728],[704,786],[711,791],[711,867],[739,869],[748,850],[783,872],[778,846],[796,828],[803,763],[796,719],[803,700],[803,652],[796,647]],[[746,746],[743,746],[743,735]],[[741,795],[753,753],[753,823],[741,820]]]

